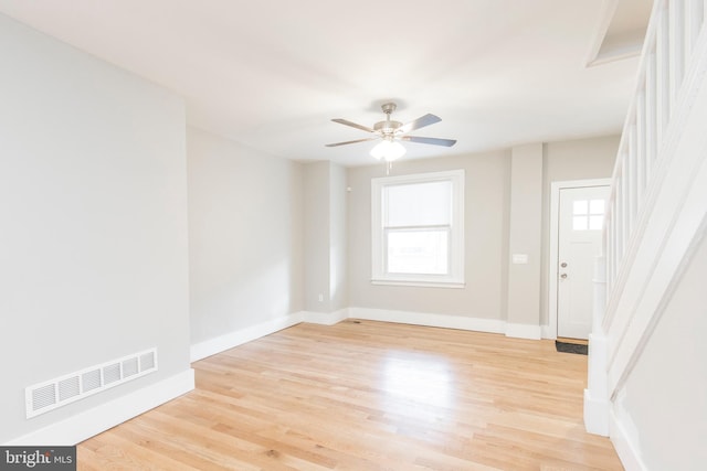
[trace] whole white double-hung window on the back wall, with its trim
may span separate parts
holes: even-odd
[[[372,281],[462,287],[464,171],[372,179]]]

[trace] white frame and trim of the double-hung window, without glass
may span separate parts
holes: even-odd
[[[371,179],[371,283],[464,288],[464,170]],[[450,272],[447,275],[387,272],[387,228],[383,227],[383,189],[391,185],[439,181],[452,182],[452,221],[447,254],[450,257]],[[429,227],[439,228],[440,226]]]

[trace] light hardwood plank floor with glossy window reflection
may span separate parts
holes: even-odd
[[[193,364],[197,388],[78,446],[80,470],[621,470],[552,341],[347,320]]]

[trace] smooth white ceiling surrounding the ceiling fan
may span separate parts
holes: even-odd
[[[620,132],[637,60],[585,67],[606,1],[0,0],[0,12],[183,96],[193,126],[355,165],[373,143],[326,148],[367,137],[330,119],[372,126],[390,99],[400,121],[442,118],[413,135],[457,139],[405,143],[407,158]]]

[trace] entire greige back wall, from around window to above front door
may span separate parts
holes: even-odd
[[[370,283],[370,179],[384,175],[386,169],[381,164],[348,169],[348,185],[351,189],[348,207],[349,306],[476,318],[520,325],[547,324],[550,183],[611,176],[619,137],[545,143],[541,159],[538,158],[539,146],[514,148],[518,153],[517,165],[524,162],[521,160],[524,150],[530,150],[532,153],[532,158],[526,162],[529,167],[525,170],[517,169],[518,172],[516,172],[517,182],[523,183],[526,180],[530,182],[530,186],[526,189],[513,188],[511,153],[514,149],[440,159],[403,160],[393,165],[392,174],[465,169],[466,287],[464,289],[386,287]],[[541,184],[539,184],[540,175]],[[525,210],[518,208],[515,218],[520,226],[516,233],[515,247],[511,247],[510,202],[514,191],[517,193],[519,204],[526,200],[532,200],[536,202],[534,207],[537,208],[537,202],[540,202],[541,206],[539,213],[535,212],[535,224],[526,217]],[[538,240],[540,240],[540,251],[538,251]],[[530,264],[510,265],[511,251],[527,251],[530,255]],[[516,275],[521,277],[521,280],[515,283],[523,292],[521,299],[517,293],[509,292],[508,281],[511,269],[517,270]],[[527,283],[532,286],[528,287]],[[510,303],[515,304],[510,307]],[[511,318],[508,317],[509,309],[514,311]],[[537,329],[508,333],[524,336],[535,332]]]

